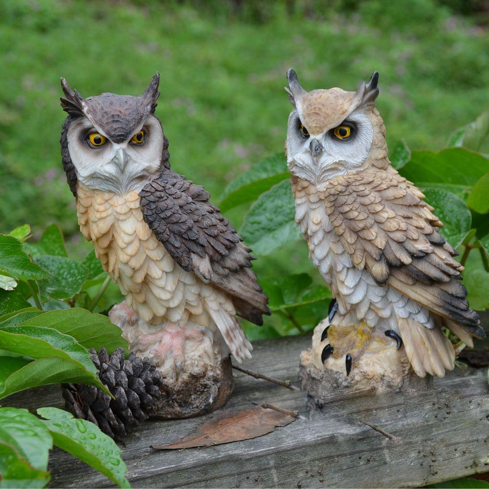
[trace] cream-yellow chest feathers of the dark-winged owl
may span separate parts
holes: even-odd
[[[174,321],[184,309],[200,308],[196,277],[180,268],[156,239],[135,191],[120,195],[79,184],[76,207],[82,233],[93,241],[97,258],[141,318]]]

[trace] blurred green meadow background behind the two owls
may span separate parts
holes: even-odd
[[[172,166],[214,200],[282,151],[288,67],[307,89],[356,89],[379,70],[388,142],[439,148],[454,121],[475,119],[488,86],[489,39],[466,3],[0,0],[2,228],[30,222],[39,237],[56,222],[76,256],[89,249],[60,161],[61,75],[89,96],[140,93],[160,71]],[[237,225],[243,215],[229,213]]]

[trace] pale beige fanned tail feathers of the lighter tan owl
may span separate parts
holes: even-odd
[[[453,370],[455,350],[438,326],[428,329],[414,319],[404,318],[399,318],[398,325],[406,355],[416,375],[444,377],[445,370]]]

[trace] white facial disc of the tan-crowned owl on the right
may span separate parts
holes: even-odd
[[[332,178],[363,167],[374,138],[372,124],[363,111],[353,112],[342,124],[352,128],[352,136],[346,140],[335,137],[334,128],[304,135],[297,109],[290,113],[287,163],[292,175],[322,190]]]

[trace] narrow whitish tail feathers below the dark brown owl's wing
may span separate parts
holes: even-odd
[[[211,305],[206,302],[206,310],[216,323],[229,351],[236,358],[236,361],[241,363],[244,358],[251,358],[253,347],[248,338],[246,338],[236,317],[222,309],[220,304]]]

